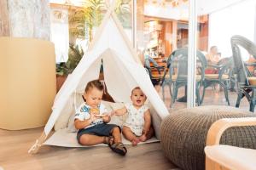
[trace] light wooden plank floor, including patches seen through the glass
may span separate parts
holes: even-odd
[[[166,106],[169,108],[171,96],[165,88]],[[160,93],[160,96],[161,93]],[[183,96],[183,90],[178,94]],[[235,105],[236,93],[230,93],[230,103]],[[203,105],[227,105],[223,91],[207,90]],[[186,103],[176,102],[170,113],[186,107]],[[248,111],[246,99],[241,102],[241,108]],[[94,148],[63,148],[43,146],[37,155],[27,154],[27,150],[42,133],[43,127],[21,131],[0,129],[0,167],[4,170],[57,170],[57,169],[176,169],[166,159],[160,148],[160,143],[142,144],[137,147],[128,146],[125,157],[118,156],[108,147]],[[0,168],[1,169],[1,168]]]

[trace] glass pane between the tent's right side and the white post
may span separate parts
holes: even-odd
[[[137,1],[137,53],[169,111],[187,107],[188,1]]]

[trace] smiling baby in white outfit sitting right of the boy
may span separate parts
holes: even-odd
[[[123,134],[125,139],[131,141],[132,145],[144,142],[152,138],[154,129],[151,126],[151,116],[148,106],[145,105],[147,97],[143,94],[141,88],[133,88],[131,91],[131,104],[125,104],[125,107],[113,111],[113,115],[121,116],[128,113],[128,117],[123,125]]]

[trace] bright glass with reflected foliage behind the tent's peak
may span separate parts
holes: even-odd
[[[131,0],[117,0],[114,9],[117,18],[125,28],[125,33],[130,40],[131,5]],[[50,8],[52,12],[51,38],[55,42],[55,47],[57,47],[57,63],[67,61],[69,45],[71,48],[80,48],[80,50],[83,49],[86,51],[89,43],[95,37],[96,29],[101,25],[104,14],[106,14],[108,9],[104,0],[51,0]],[[60,38],[59,35],[62,37]]]

